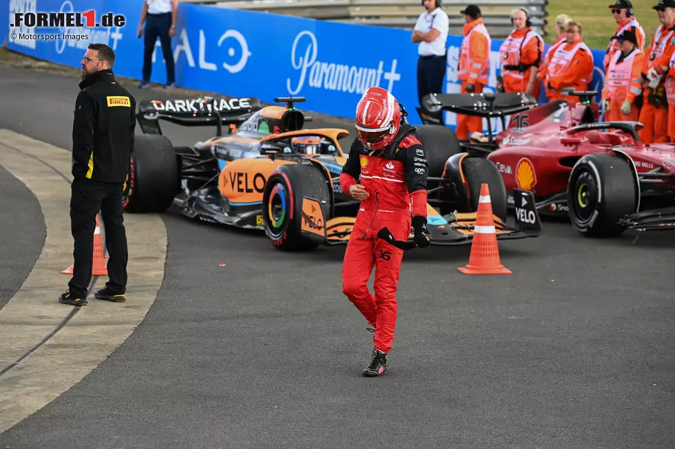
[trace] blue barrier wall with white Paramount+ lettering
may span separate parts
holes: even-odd
[[[79,67],[89,43],[106,43],[117,55],[114,72],[138,79],[143,65],[143,38],[136,36],[141,14],[138,3],[10,0],[10,22],[14,12],[91,9],[96,11],[97,18],[112,12],[123,14],[126,21],[119,28],[9,28],[0,31],[0,36],[10,35],[10,50],[72,67]],[[49,41],[12,39],[12,33],[21,32],[61,36]],[[87,39],[73,39],[78,34],[87,35]],[[457,58],[461,39],[448,36],[446,92],[459,91]],[[486,90],[494,91],[497,83],[501,43],[492,41]],[[411,43],[411,32],[405,30],[180,3],[172,47],[176,83],[181,87],[256,96],[264,102],[272,102],[276,96],[304,96],[307,102],[303,109],[352,118],[364,89],[376,85],[392,91],[406,105],[411,123],[419,123],[415,112],[417,45]],[[594,90],[602,89],[603,55],[600,50],[593,52],[596,73],[591,89]],[[166,71],[159,41],[153,59],[152,81],[164,83]],[[454,127],[455,115],[446,114],[446,123]]]

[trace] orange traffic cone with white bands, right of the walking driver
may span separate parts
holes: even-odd
[[[478,213],[471,243],[471,255],[466,267],[457,270],[464,274],[512,274],[499,260],[499,245],[495,233],[495,221],[492,218],[492,202],[488,184],[481,186],[478,200]]]

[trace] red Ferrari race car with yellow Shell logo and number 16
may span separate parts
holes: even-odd
[[[426,123],[443,111],[488,119],[488,133],[457,143],[497,166],[517,215],[514,188],[532,191],[541,215],[569,215],[589,237],[674,230],[675,145],[641,143],[639,122],[598,122],[597,92],[570,94],[579,100],[543,105],[525,94],[432,94],[418,113]],[[504,131],[492,133],[494,119]]]

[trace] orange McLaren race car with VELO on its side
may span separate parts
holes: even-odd
[[[275,98],[284,106],[265,107],[256,98],[141,102],[137,118],[144,134],[134,143],[125,210],[159,212],[174,206],[189,217],[264,230],[281,250],[346,243],[359,206],[338,180],[349,152],[340,139],[349,131],[304,128],[311,118],[295,107],[302,101]],[[217,132],[191,148],[173,146],[159,120],[214,124]],[[506,190],[494,164],[461,153],[454,133],[444,126],[418,127],[417,137],[427,149],[432,244],[472,241],[483,183],[490,187],[498,239],[539,235],[533,207],[530,219],[506,225]],[[523,204],[534,206],[528,201],[531,193],[523,190],[522,195]]]

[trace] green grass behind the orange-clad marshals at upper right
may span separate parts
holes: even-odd
[[[549,0],[546,7],[548,12],[549,25],[546,27],[548,36],[546,43],[555,41],[554,21],[558,14],[568,14],[572,20],[581,22],[583,26],[583,41],[595,50],[605,50],[610,41],[610,37],[616,31],[616,22],[612,17],[612,11],[607,5],[614,3],[614,0]],[[652,41],[652,36],[660,24],[656,11],[652,6],[658,3],[658,0],[633,0],[634,16],[645,30],[645,50]]]

